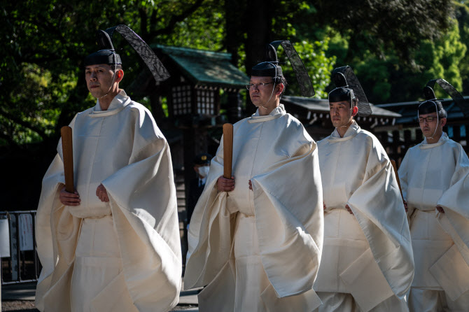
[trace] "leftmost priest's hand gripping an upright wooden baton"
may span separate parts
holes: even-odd
[[[65,206],[78,206],[80,195],[73,187],[73,142],[71,139],[71,127],[65,126],[60,129],[62,136],[62,154],[64,157],[65,186],[59,194],[59,200]]]

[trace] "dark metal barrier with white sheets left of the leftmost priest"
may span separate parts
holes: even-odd
[[[38,280],[36,211],[0,212],[1,285]]]

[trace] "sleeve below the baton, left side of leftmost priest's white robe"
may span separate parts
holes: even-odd
[[[73,129],[76,117],[70,123]],[[62,139],[57,155],[52,160],[43,181],[36,213],[36,246],[42,270],[36,288],[36,307],[44,311],[46,295],[66,287],[73,271],[76,241],[81,220],[69,212],[71,207],[59,201],[59,192],[65,183],[62,160]],[[55,296],[55,306],[69,306],[69,295]]]

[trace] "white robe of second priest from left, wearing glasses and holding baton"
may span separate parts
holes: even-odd
[[[316,143],[280,105],[234,125],[235,190],[217,192],[223,140],[188,232],[200,311],[313,311],[323,213]],[[252,181],[253,190],[248,189]]]

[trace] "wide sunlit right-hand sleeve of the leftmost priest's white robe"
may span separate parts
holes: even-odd
[[[182,257],[169,146],[139,111],[130,164],[102,181],[118,234],[123,273],[139,311],[168,311],[181,289]]]

